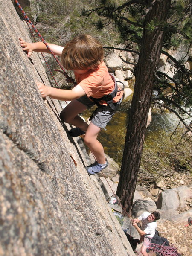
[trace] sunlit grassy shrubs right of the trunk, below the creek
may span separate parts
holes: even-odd
[[[171,177],[175,172],[192,174],[192,140],[189,136],[183,137],[181,142],[182,129],[177,129],[171,140],[167,132],[159,132],[158,140],[155,135],[145,140],[138,182],[150,185],[162,177]]]

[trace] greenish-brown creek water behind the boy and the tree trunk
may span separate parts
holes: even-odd
[[[113,116],[105,129],[103,129],[98,140],[104,147],[105,154],[113,158],[119,165],[122,162],[125,134],[128,124],[128,109],[131,106],[132,94],[122,101],[119,111]],[[84,111],[81,116],[86,120],[93,113],[93,108]],[[162,137],[163,131],[172,134],[178,124],[178,119],[173,113],[160,113],[158,110],[151,111],[152,120],[145,134],[145,144],[151,148],[154,141]]]

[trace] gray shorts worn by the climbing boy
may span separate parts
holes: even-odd
[[[87,97],[87,95],[84,95],[81,98],[76,100],[81,102],[87,108],[91,108],[93,105],[96,104],[95,102],[91,101]],[[105,128],[105,126],[111,120],[113,115],[116,113],[121,102],[122,102],[122,99],[120,99],[120,101],[116,103],[117,106],[115,110],[111,109],[110,106],[105,106],[105,105],[101,105],[98,108],[96,108],[91,118],[91,122],[93,123],[93,125],[96,125],[99,128]]]

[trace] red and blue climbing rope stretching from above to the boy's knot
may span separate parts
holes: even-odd
[[[68,76],[68,74],[66,73],[66,71],[64,70],[64,67],[60,64],[60,62],[58,61],[58,58],[55,56],[55,54],[53,53],[53,51],[50,49],[50,47],[48,46],[47,42],[44,40],[44,38],[42,37],[42,35],[38,32],[38,30],[35,28],[35,26],[33,25],[33,23],[31,22],[31,20],[29,20],[29,18],[27,17],[26,13],[23,11],[22,7],[20,6],[19,2],[17,0],[15,0],[15,3],[17,4],[18,8],[20,9],[20,12],[22,13],[24,19],[26,20],[26,22],[29,22],[32,26],[32,28],[35,30],[35,32],[38,34],[38,36],[41,38],[41,41],[46,45],[47,49],[51,52],[52,56],[55,58],[55,60],[57,61],[57,63],[59,64],[59,66],[61,67],[60,71],[62,74],[64,74],[64,76],[66,77],[68,82],[73,83],[74,85],[76,85],[75,80]],[[58,70],[57,70],[58,71]]]

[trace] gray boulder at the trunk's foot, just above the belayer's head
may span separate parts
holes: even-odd
[[[143,212],[154,212],[157,207],[153,201],[137,200],[132,206],[132,215],[138,218]]]

